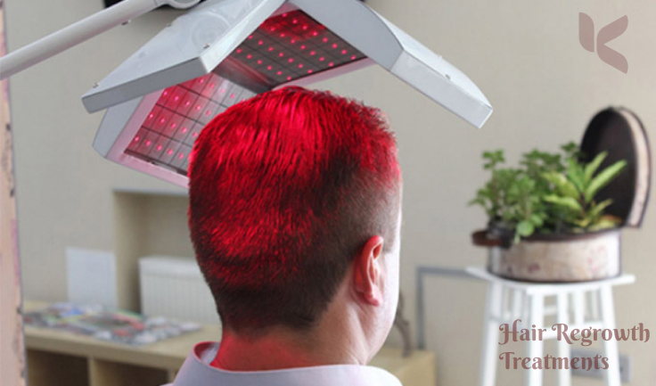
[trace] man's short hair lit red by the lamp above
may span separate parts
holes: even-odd
[[[209,122],[191,160],[191,238],[226,329],[311,328],[365,242],[393,242],[400,168],[377,109],[258,94]]]

